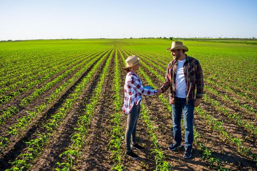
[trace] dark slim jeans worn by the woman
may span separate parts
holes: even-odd
[[[136,131],[140,113],[140,105],[134,104],[131,112],[127,115],[127,129],[125,132],[126,150],[130,151],[130,143],[136,144]]]

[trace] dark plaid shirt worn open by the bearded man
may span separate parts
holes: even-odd
[[[176,104],[176,74],[177,74],[178,64],[177,61],[173,60],[168,64],[165,82],[161,89],[165,92],[170,87],[170,97],[169,103]],[[187,103],[189,100],[195,97],[195,85],[196,85],[196,98],[202,98],[204,93],[204,81],[203,81],[203,71],[200,63],[186,54],[186,62],[183,66],[185,81],[187,84]]]

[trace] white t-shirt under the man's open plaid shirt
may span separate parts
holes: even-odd
[[[187,84],[186,84],[185,74],[183,69],[183,65],[185,62],[186,62],[186,59],[182,61],[178,60],[178,70],[176,74],[176,96],[180,98],[186,98]]]

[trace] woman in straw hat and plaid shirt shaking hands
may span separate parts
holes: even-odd
[[[137,75],[139,70],[139,58],[136,55],[129,56],[126,59],[126,80],[124,85],[124,105],[122,110],[127,114],[127,129],[125,133],[126,142],[126,156],[133,159],[138,159],[139,156],[135,154],[132,149],[143,150],[143,148],[136,143],[136,127],[138,123],[140,104],[142,95],[159,94],[160,90],[146,89],[142,85],[142,81]],[[132,146],[130,146],[132,140]]]

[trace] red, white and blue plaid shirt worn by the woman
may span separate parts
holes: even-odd
[[[134,104],[141,105],[142,94],[155,95],[157,90],[146,89],[142,85],[139,76],[133,72],[128,72],[126,75],[124,85],[124,105],[122,110],[128,114],[130,113]]]

